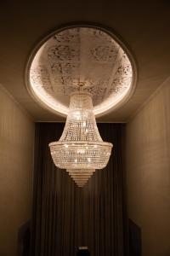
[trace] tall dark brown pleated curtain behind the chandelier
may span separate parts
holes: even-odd
[[[111,159],[78,188],[54,166],[48,148],[64,124],[37,123],[31,256],[75,256],[83,246],[91,256],[127,255],[124,125],[98,127],[103,140],[114,145]]]

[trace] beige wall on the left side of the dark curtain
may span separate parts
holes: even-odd
[[[0,255],[17,255],[31,217],[34,124],[0,85]]]

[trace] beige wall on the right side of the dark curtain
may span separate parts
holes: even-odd
[[[170,80],[127,124],[127,197],[143,256],[170,255]]]

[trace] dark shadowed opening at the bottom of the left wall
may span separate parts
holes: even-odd
[[[31,240],[31,223],[30,220],[20,226],[18,231],[18,255],[30,255],[30,240]]]

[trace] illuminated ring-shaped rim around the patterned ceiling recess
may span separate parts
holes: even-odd
[[[29,94],[31,95],[31,97],[34,99],[34,101],[36,101],[38,104],[40,104],[42,106],[42,108],[46,108],[49,111],[56,113],[60,116],[65,116],[68,114],[68,109],[69,109],[68,107],[58,108],[55,105],[55,108],[54,108],[53,105],[50,106],[48,104],[48,102],[46,102],[45,98],[43,100],[40,99],[40,97],[37,95],[35,90],[33,90],[33,88],[31,87],[30,71],[31,71],[32,61],[34,60],[35,56],[37,55],[38,50],[42,47],[43,44],[45,44],[50,38],[52,38],[54,35],[56,35],[60,32],[64,32],[67,29],[78,28],[78,27],[79,28],[92,28],[92,29],[99,30],[101,32],[105,32],[105,34],[107,34],[113,40],[115,40],[116,44],[118,44],[122,48],[124,53],[127,55],[127,58],[132,67],[132,72],[133,72],[132,82],[129,87],[129,90],[127,90],[127,94],[125,96],[123,96],[122,99],[120,99],[119,101],[114,102],[114,104],[112,104],[111,101],[110,102],[108,101],[108,103],[103,105],[102,108],[101,108],[101,106],[94,107],[94,115],[96,117],[99,117],[105,113],[110,113],[111,111],[122,107],[122,105],[125,104],[131,98],[131,96],[133,96],[133,92],[135,90],[136,83],[137,83],[136,61],[134,61],[131,51],[127,48],[126,44],[124,44],[122,38],[117,36],[116,32],[113,32],[113,30],[110,28],[105,28],[104,26],[100,26],[100,25],[98,26],[98,25],[89,25],[89,24],[88,25],[87,24],[78,24],[78,25],[76,24],[76,25],[61,26],[58,29],[55,29],[53,32],[50,32],[46,37],[43,37],[42,40],[39,41],[39,43],[36,45],[36,47],[34,47],[34,49],[31,50],[31,55],[28,58],[28,61],[26,63],[26,75],[25,75],[26,88],[27,88]]]

